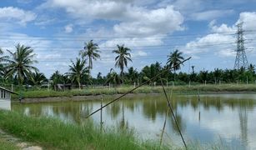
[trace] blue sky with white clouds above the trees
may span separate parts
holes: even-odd
[[[128,67],[138,71],[164,65],[175,49],[192,57],[181,71],[212,71],[233,68],[241,22],[248,63],[256,64],[256,0],[1,0],[0,47],[32,47],[35,66],[47,77],[68,72],[91,39],[101,51],[93,77],[111,68],[119,72],[112,52],[117,44],[132,50]]]

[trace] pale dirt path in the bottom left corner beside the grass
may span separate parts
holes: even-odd
[[[0,129],[0,138],[4,139],[5,141],[8,141],[10,143],[13,143],[13,145],[16,145],[18,148],[22,150],[43,150],[43,148],[34,145],[33,143],[28,143],[23,141],[20,138],[15,138],[12,135],[5,133],[3,130]]]

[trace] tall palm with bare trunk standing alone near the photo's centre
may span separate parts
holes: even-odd
[[[115,57],[115,67],[120,67],[120,74],[122,74],[123,78],[123,69],[124,67],[127,67],[128,61],[133,62],[131,59],[131,54],[129,51],[131,51],[130,48],[124,47],[124,45],[117,45],[118,49],[113,50],[114,53],[118,54],[117,57]],[[123,79],[122,79],[123,80]]]

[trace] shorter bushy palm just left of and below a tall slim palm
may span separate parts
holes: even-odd
[[[73,81],[78,82],[79,90],[81,89],[81,79],[84,75],[88,74],[88,67],[85,67],[85,60],[77,58],[77,62],[72,62],[72,65],[69,65],[68,75],[72,78]]]

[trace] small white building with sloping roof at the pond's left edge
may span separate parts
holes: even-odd
[[[0,87],[0,109],[11,110],[11,94],[17,94],[4,87]]]

